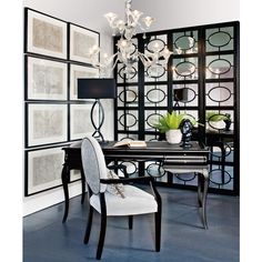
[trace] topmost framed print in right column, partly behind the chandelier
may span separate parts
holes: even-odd
[[[99,47],[99,33],[75,24],[69,24],[69,60],[91,64],[90,49]]]

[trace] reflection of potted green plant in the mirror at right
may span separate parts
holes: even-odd
[[[205,113],[205,119],[209,123],[208,129],[210,131],[218,131],[225,128],[225,121],[229,120],[229,114],[222,114],[214,111],[209,111]]]

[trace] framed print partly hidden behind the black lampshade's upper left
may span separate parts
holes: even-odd
[[[79,64],[70,64],[70,100],[83,100],[78,99],[79,78],[99,78],[99,70]]]

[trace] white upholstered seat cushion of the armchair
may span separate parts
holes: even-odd
[[[133,185],[124,187],[124,199],[118,195],[104,192],[107,203],[107,215],[133,215],[154,213],[158,210],[154,196]],[[101,213],[100,199],[98,194],[92,194],[90,204]]]

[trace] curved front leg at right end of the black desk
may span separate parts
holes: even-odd
[[[198,200],[199,200],[199,206],[201,208],[201,219],[203,221],[204,229],[208,229],[206,196],[209,189],[209,171],[203,170],[203,173],[199,173],[198,179],[199,179]]]

